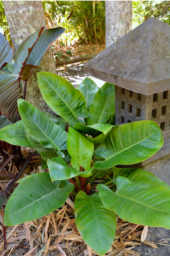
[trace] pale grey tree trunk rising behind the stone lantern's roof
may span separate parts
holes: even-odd
[[[132,29],[132,1],[105,1],[105,46]]]

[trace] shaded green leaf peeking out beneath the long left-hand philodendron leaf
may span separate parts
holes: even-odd
[[[41,145],[41,143],[38,140],[35,140],[25,129],[27,140],[31,144],[31,147],[34,148],[36,151],[40,153],[45,163],[47,163],[48,159],[52,159],[55,157],[58,157],[58,154],[56,150],[53,148],[45,148]],[[47,168],[47,167],[46,167]]]

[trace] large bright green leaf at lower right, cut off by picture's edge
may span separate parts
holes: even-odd
[[[170,228],[170,190],[163,186],[142,188],[125,177],[116,179],[117,191],[99,184],[99,196],[107,209],[121,219],[151,227]]]

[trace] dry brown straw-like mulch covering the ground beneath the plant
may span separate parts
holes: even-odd
[[[29,152],[22,149],[26,157]],[[16,175],[18,172],[12,161],[9,163],[11,172]],[[47,170],[45,170],[47,171]],[[40,166],[40,156],[34,156],[29,162],[23,176],[31,173],[44,172]],[[1,189],[6,188],[10,180],[0,180]],[[14,189],[14,188],[13,188]],[[11,189],[11,190],[13,190]],[[12,191],[8,192],[7,197]],[[3,215],[4,208],[0,210],[0,256],[94,256],[98,255],[83,241],[75,225],[73,211],[73,198],[70,197],[56,211],[40,218],[29,221],[22,225],[6,228],[7,250],[4,251],[3,238]],[[129,223],[117,218],[116,236],[110,250],[105,253],[107,256],[140,255],[135,252],[135,246],[147,244],[153,248],[157,245],[145,241],[147,227]]]

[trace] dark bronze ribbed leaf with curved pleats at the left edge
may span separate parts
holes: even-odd
[[[0,72],[0,109],[12,123],[20,119],[17,100],[20,98],[18,76]]]

